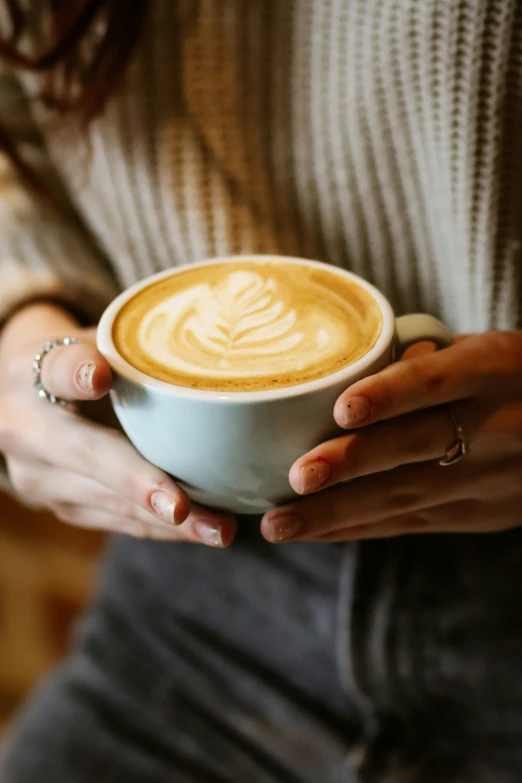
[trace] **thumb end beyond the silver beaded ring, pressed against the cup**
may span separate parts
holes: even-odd
[[[90,343],[53,348],[42,360],[44,388],[65,400],[97,400],[112,383],[107,360]]]

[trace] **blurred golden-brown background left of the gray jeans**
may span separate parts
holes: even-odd
[[[0,728],[64,655],[104,538],[0,493]]]

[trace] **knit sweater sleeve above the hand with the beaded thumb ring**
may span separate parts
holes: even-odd
[[[40,181],[57,193],[53,169],[29,103],[16,77],[0,70],[0,118]],[[63,192],[61,193],[63,196]],[[75,218],[33,193],[0,153],[0,322],[21,304],[52,298],[96,323],[117,293],[100,249]]]

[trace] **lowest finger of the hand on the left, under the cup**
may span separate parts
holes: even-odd
[[[223,519],[217,524],[215,518],[204,510],[194,513],[182,525],[174,527],[137,509],[137,514],[121,515],[106,508],[97,508],[73,503],[56,503],[54,513],[63,522],[113,533],[126,533],[138,538],[161,541],[191,542],[223,548],[228,546],[235,534],[234,524]]]

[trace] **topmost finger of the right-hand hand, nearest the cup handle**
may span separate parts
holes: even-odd
[[[522,383],[522,333],[488,332],[428,355],[396,362],[348,388],[334,406],[353,429]]]

